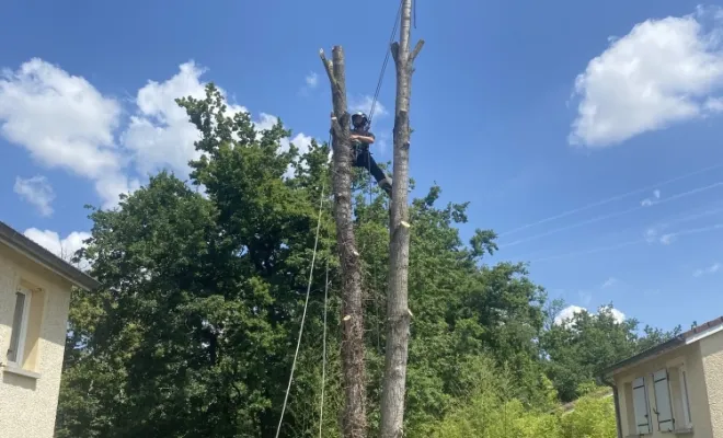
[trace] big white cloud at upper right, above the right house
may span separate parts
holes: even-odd
[[[639,23],[589,61],[575,80],[581,99],[570,142],[590,148],[723,110],[720,9]],[[711,19],[713,30],[704,28]]]

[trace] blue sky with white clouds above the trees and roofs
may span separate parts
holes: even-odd
[[[324,138],[319,48],[345,47],[349,99],[363,107],[397,4],[0,8],[0,41],[12,42],[0,51],[0,220],[60,251],[89,231],[84,204],[110,206],[161,166],[185,171],[194,132],[172,99],[206,81],[262,127],[280,117],[297,145]],[[420,192],[436,182],[445,201],[472,201],[466,237],[493,228],[492,261],[530,261],[532,278],[570,304],[612,301],[662,327],[722,313],[719,9],[451,0],[421,1],[416,15],[427,44],[412,176]],[[393,67],[380,102],[392,111]],[[378,112],[385,161],[391,124]]]

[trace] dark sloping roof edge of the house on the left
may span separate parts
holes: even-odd
[[[10,226],[0,221],[0,242],[21,252],[26,257],[33,260],[50,269],[55,274],[67,279],[71,284],[85,290],[97,289],[101,284],[95,278],[89,276],[82,270],[73,267],[62,258],[53,254],[48,250],[33,242],[31,239],[21,234]]]

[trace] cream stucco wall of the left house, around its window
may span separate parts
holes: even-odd
[[[39,288],[31,299],[25,368],[38,378],[8,370],[8,347],[15,290],[20,285]],[[51,438],[60,388],[70,284],[0,244],[0,436]],[[33,333],[32,331],[35,331]]]

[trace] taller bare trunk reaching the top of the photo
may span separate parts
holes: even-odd
[[[412,0],[402,4],[400,41],[391,46],[397,66],[397,100],[394,111],[394,173],[390,218],[389,289],[387,291],[387,346],[385,380],[381,393],[382,438],[401,438],[404,422],[406,358],[410,320],[408,277],[410,261],[409,223],[409,149],[410,94],[414,59],[422,50],[420,41],[410,53]]]

